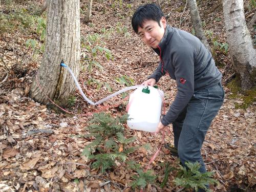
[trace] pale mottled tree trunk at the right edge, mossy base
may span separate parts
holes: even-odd
[[[242,90],[256,83],[256,50],[246,26],[242,0],[223,0],[223,12],[231,61]]]

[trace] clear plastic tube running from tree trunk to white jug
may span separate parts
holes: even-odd
[[[84,95],[84,93],[83,93],[83,91],[82,91],[82,89],[81,89],[81,87],[80,87],[80,85],[79,85],[79,83],[78,83],[78,81],[77,81],[77,79],[76,79],[74,73],[72,72],[72,70],[71,70],[68,66],[66,66],[64,63],[61,63],[61,66],[67,68],[67,70],[70,72],[71,76],[73,77],[73,79],[74,79],[74,81],[75,81],[75,84],[76,84],[76,87],[77,87],[77,89],[79,90],[79,92],[81,93],[82,97],[83,97],[88,103],[90,103],[90,104],[92,104],[92,105],[100,104],[100,103],[102,103],[102,102],[104,102],[104,101],[106,101],[106,100],[108,100],[108,99],[110,99],[110,98],[112,98],[112,97],[114,97],[114,96],[116,96],[116,95],[119,95],[119,94],[121,94],[121,93],[123,93],[123,92],[125,92],[125,91],[129,91],[129,90],[132,90],[132,89],[137,89],[137,88],[139,88],[139,87],[142,86],[142,85],[139,85],[139,86],[127,87],[127,88],[124,88],[124,89],[122,89],[122,90],[120,90],[120,91],[118,91],[118,92],[116,92],[116,93],[113,93],[113,94],[109,95],[108,97],[105,97],[105,98],[103,98],[103,99],[101,99],[101,100],[99,100],[99,101],[97,101],[97,102],[93,102],[93,101],[91,101],[90,99],[88,99],[86,95]]]

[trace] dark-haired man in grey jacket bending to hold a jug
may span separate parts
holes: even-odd
[[[132,26],[142,41],[160,56],[159,66],[142,84],[154,86],[165,74],[177,83],[175,100],[160,120],[156,133],[172,123],[174,145],[181,163],[199,162],[200,172],[205,173],[201,147],[224,100],[222,74],[201,41],[168,26],[157,5],[140,6],[133,15]]]

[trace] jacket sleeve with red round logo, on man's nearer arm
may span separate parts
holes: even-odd
[[[179,48],[173,55],[177,95],[166,115],[161,119],[163,125],[173,123],[194,94],[194,54],[189,46]]]

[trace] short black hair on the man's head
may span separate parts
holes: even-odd
[[[138,33],[138,28],[143,28],[143,23],[146,20],[155,20],[160,25],[160,19],[164,16],[161,8],[156,4],[145,4],[134,12],[132,18],[132,26],[135,33]]]

